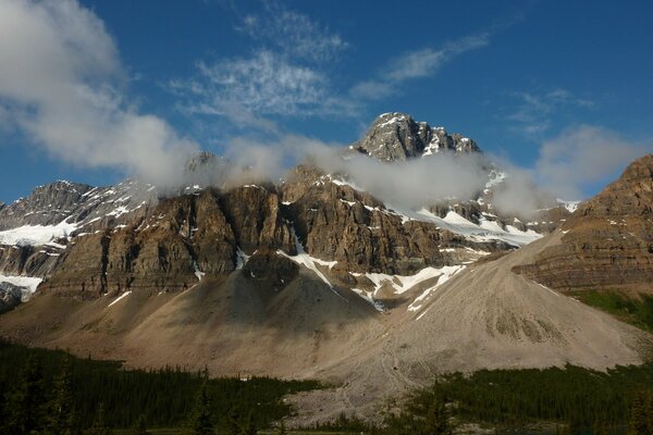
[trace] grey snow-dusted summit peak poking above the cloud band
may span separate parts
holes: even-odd
[[[416,122],[411,115],[387,112],[379,115],[365,137],[352,145],[361,153],[381,161],[406,160],[445,152],[480,152],[476,141],[444,127]]]

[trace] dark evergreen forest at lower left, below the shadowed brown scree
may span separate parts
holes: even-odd
[[[210,380],[173,368],[124,370],[118,361],[0,341],[0,434],[143,434],[148,427],[252,434],[291,412],[283,396],[318,387],[268,377]]]

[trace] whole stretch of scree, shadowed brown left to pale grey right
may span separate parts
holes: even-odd
[[[0,335],[132,366],[207,365],[215,375],[340,385],[294,399],[304,423],[343,410],[371,417],[385,399],[442,372],[641,362],[650,335],[512,272],[559,237],[470,264],[433,289],[419,311],[403,302],[378,313],[305,268],[282,288],[242,270],[177,294],[75,301],[46,293],[2,315]],[[408,290],[406,300],[423,290]]]

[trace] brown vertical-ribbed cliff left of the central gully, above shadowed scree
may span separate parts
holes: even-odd
[[[82,297],[173,291],[205,274],[227,274],[238,251],[261,248],[295,251],[276,194],[258,186],[206,189],[162,200],[128,226],[77,237],[40,289]]]

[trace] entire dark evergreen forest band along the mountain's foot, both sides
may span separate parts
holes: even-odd
[[[514,434],[528,427],[653,435],[653,363],[607,373],[566,366],[454,374],[415,391],[401,409],[390,403],[392,412],[379,426],[342,414],[304,431],[272,428],[291,412],[284,395],[318,387],[266,377],[211,380],[206,371],[124,370],[116,361],[0,341],[0,435],[438,435],[465,422]]]

